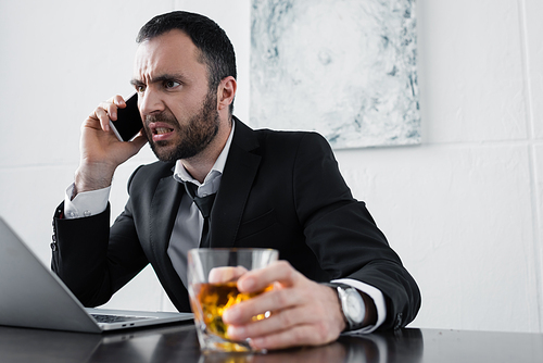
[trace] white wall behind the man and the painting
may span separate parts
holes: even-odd
[[[130,92],[139,27],[173,9],[229,34],[248,121],[250,0],[0,1],[0,215],[43,263],[80,123]],[[543,331],[543,2],[418,0],[417,11],[422,145],[337,158],[419,283],[413,326]],[[146,148],[118,170],[115,214],[130,172],[151,161]],[[150,270],[109,305],[173,309]]]

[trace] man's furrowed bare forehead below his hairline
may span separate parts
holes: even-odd
[[[136,51],[134,75],[149,78],[161,74],[193,74],[207,70],[202,62],[200,50],[190,37],[181,30],[169,30],[163,35],[142,41]]]

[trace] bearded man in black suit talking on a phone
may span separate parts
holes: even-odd
[[[242,291],[276,289],[224,314],[232,339],[278,349],[408,324],[418,287],[352,198],[326,140],[252,130],[232,116],[236,60],[224,30],[173,12],[146,24],[137,41],[131,83],[143,132],[119,142],[109,121],[123,98],[100,104],[83,124],[75,183],[55,213],[52,268],[77,298],[102,304],[151,263],[176,308],[189,311],[189,249],[276,248],[282,261],[238,281]],[[114,171],[147,141],[160,161],[134,172],[110,228]],[[190,185],[195,197],[215,195],[207,238]],[[266,311],[268,318],[252,321]]]

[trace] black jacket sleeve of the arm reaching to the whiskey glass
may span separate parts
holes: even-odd
[[[299,218],[321,268],[334,279],[357,279],[383,293],[387,320],[380,328],[400,328],[412,322],[420,306],[417,284],[365,203],[353,199],[323,137],[304,136],[293,175]]]

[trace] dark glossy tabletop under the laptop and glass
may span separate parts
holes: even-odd
[[[318,348],[202,354],[192,324],[104,335],[0,326],[0,362],[543,362],[543,334],[406,328]]]

